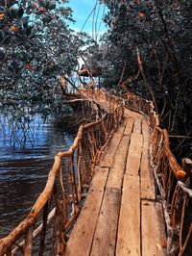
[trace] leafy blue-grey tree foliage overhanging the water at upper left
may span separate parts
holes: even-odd
[[[12,117],[63,108],[60,77],[77,68],[84,41],[69,28],[67,1],[0,1],[0,110]]]

